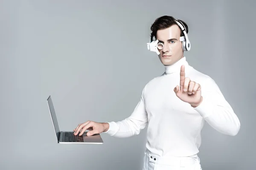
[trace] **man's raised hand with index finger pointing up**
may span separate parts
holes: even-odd
[[[192,107],[197,107],[201,104],[203,97],[201,96],[201,85],[185,78],[185,66],[180,68],[180,88],[177,85],[174,88],[176,96],[183,102],[189,103]]]

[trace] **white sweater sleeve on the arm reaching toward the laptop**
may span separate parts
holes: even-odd
[[[131,116],[119,122],[106,122],[109,124],[109,129],[103,133],[120,138],[138,135],[140,130],[144,129],[148,124],[148,114],[145,110],[144,92],[145,88],[143,88],[141,99]]]

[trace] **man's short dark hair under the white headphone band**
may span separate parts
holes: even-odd
[[[176,19],[176,20],[177,20],[177,19]],[[182,21],[182,20],[178,20],[178,21],[180,21],[180,23],[183,24],[183,26],[186,28],[186,33],[188,34],[189,28],[188,28],[188,26],[186,25],[186,23],[185,23],[184,21]],[[172,17],[172,16],[167,16],[167,15],[165,15],[165,16],[162,16],[162,17],[157,18],[157,19],[154,21],[154,23],[151,25],[151,31],[152,31],[151,37],[152,37],[152,38],[153,38],[153,37],[156,38],[157,30],[169,28],[170,26],[172,26],[172,25],[174,25],[174,24],[177,25],[177,23],[175,22],[175,18]],[[179,28],[180,28],[180,26],[179,26]],[[183,31],[181,30],[181,28],[180,28],[180,36],[184,36],[184,33],[183,33]]]

